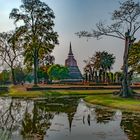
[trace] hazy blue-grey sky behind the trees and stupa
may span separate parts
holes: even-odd
[[[59,34],[59,45],[53,51],[55,63],[64,65],[68,56],[70,42],[78,66],[83,72],[83,60],[91,57],[96,51],[107,51],[116,57],[112,71],[119,71],[123,63],[124,42],[110,37],[101,40],[79,38],[76,32],[96,29],[96,23],[111,21],[111,13],[118,9],[119,2],[125,0],[42,0],[54,11],[54,30]],[[9,19],[13,8],[19,8],[21,0],[0,0],[0,32],[15,28]]]

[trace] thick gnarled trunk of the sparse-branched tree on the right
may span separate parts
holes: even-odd
[[[125,51],[123,57],[123,78],[122,78],[122,88],[120,91],[120,96],[130,97],[132,96],[132,90],[130,88],[130,81],[128,77],[128,50],[130,44],[129,31],[125,37]]]

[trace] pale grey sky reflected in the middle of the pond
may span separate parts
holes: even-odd
[[[48,131],[49,136],[45,138],[47,140],[127,140],[127,136],[120,129],[120,122],[121,112],[117,111],[109,123],[96,123],[94,108],[80,102],[73,118],[71,132],[66,114],[59,114],[53,119]]]

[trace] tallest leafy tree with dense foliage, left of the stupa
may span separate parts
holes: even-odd
[[[19,30],[24,31],[25,63],[34,65],[34,84],[37,84],[38,61],[52,52],[58,44],[57,32],[53,30],[55,18],[52,9],[40,0],[22,0],[19,9],[10,13],[14,22],[23,22]]]

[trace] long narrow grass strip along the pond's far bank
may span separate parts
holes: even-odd
[[[111,94],[115,90],[48,90],[48,91],[26,91],[23,86],[12,86],[9,89],[8,95],[11,97],[46,97],[56,95],[98,95]]]

